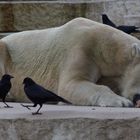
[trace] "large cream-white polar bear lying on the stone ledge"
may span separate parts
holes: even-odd
[[[79,17],[2,38],[4,73],[15,77],[16,101],[27,101],[22,81],[28,76],[75,105],[129,107],[140,93],[140,40]]]

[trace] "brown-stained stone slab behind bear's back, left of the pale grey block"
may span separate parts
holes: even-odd
[[[85,17],[88,14],[86,10],[89,6],[86,3],[59,2],[0,3],[0,31],[59,26],[75,17]],[[98,14],[102,13],[103,9],[100,3],[92,4],[90,8],[93,8]]]

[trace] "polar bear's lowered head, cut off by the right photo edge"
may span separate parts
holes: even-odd
[[[127,95],[133,100],[135,95],[140,95],[140,45],[138,43],[132,44],[131,57],[133,61],[126,69],[122,95]]]

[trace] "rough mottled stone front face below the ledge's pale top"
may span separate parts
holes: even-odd
[[[1,140],[138,140],[140,119],[0,120]]]

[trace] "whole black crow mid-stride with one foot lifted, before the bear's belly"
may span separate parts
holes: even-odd
[[[33,115],[41,114],[39,113],[39,110],[41,109],[42,105],[47,102],[65,102],[71,104],[69,101],[38,85],[29,77],[26,77],[23,80],[23,84],[25,94],[34,103],[34,105],[21,105],[23,107],[27,107],[28,109],[30,109],[29,107],[36,107],[38,104],[40,105],[39,109],[35,113],[32,113]]]

